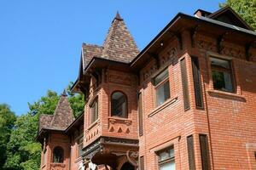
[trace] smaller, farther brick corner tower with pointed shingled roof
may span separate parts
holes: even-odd
[[[69,169],[70,141],[65,130],[73,120],[73,111],[64,91],[54,114],[39,117],[38,141],[43,147],[40,169]]]

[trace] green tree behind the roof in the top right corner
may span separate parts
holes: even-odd
[[[241,18],[256,30],[256,0],[227,0],[225,3],[220,3],[220,7],[229,5]]]

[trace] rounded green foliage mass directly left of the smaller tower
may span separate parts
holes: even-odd
[[[35,141],[38,117],[26,114],[18,117],[7,145],[8,159],[5,168],[10,170],[30,169],[28,165],[40,164],[41,146]]]

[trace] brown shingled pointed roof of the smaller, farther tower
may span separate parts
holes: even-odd
[[[39,117],[38,131],[40,132],[42,128],[64,131],[73,122],[73,120],[73,111],[69,105],[67,94],[64,92],[61,94],[61,98],[55,108],[54,115],[41,115]]]

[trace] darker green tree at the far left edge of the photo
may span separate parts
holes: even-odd
[[[3,169],[6,160],[7,143],[15,119],[15,113],[10,111],[9,105],[0,104],[0,169]]]

